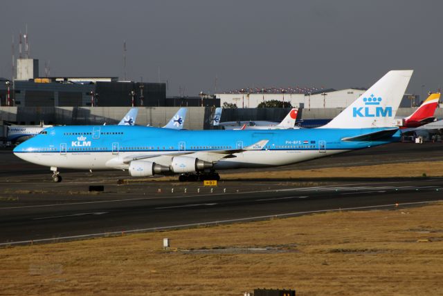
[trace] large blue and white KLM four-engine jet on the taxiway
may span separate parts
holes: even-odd
[[[128,170],[132,177],[218,180],[216,170],[285,166],[399,141],[390,124],[413,70],[392,70],[329,124],[287,130],[172,130],[145,126],[54,126],[17,146],[25,161],[60,168]]]

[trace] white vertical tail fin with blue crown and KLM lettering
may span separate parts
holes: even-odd
[[[413,70],[392,70],[320,128],[384,128],[392,125]]]

